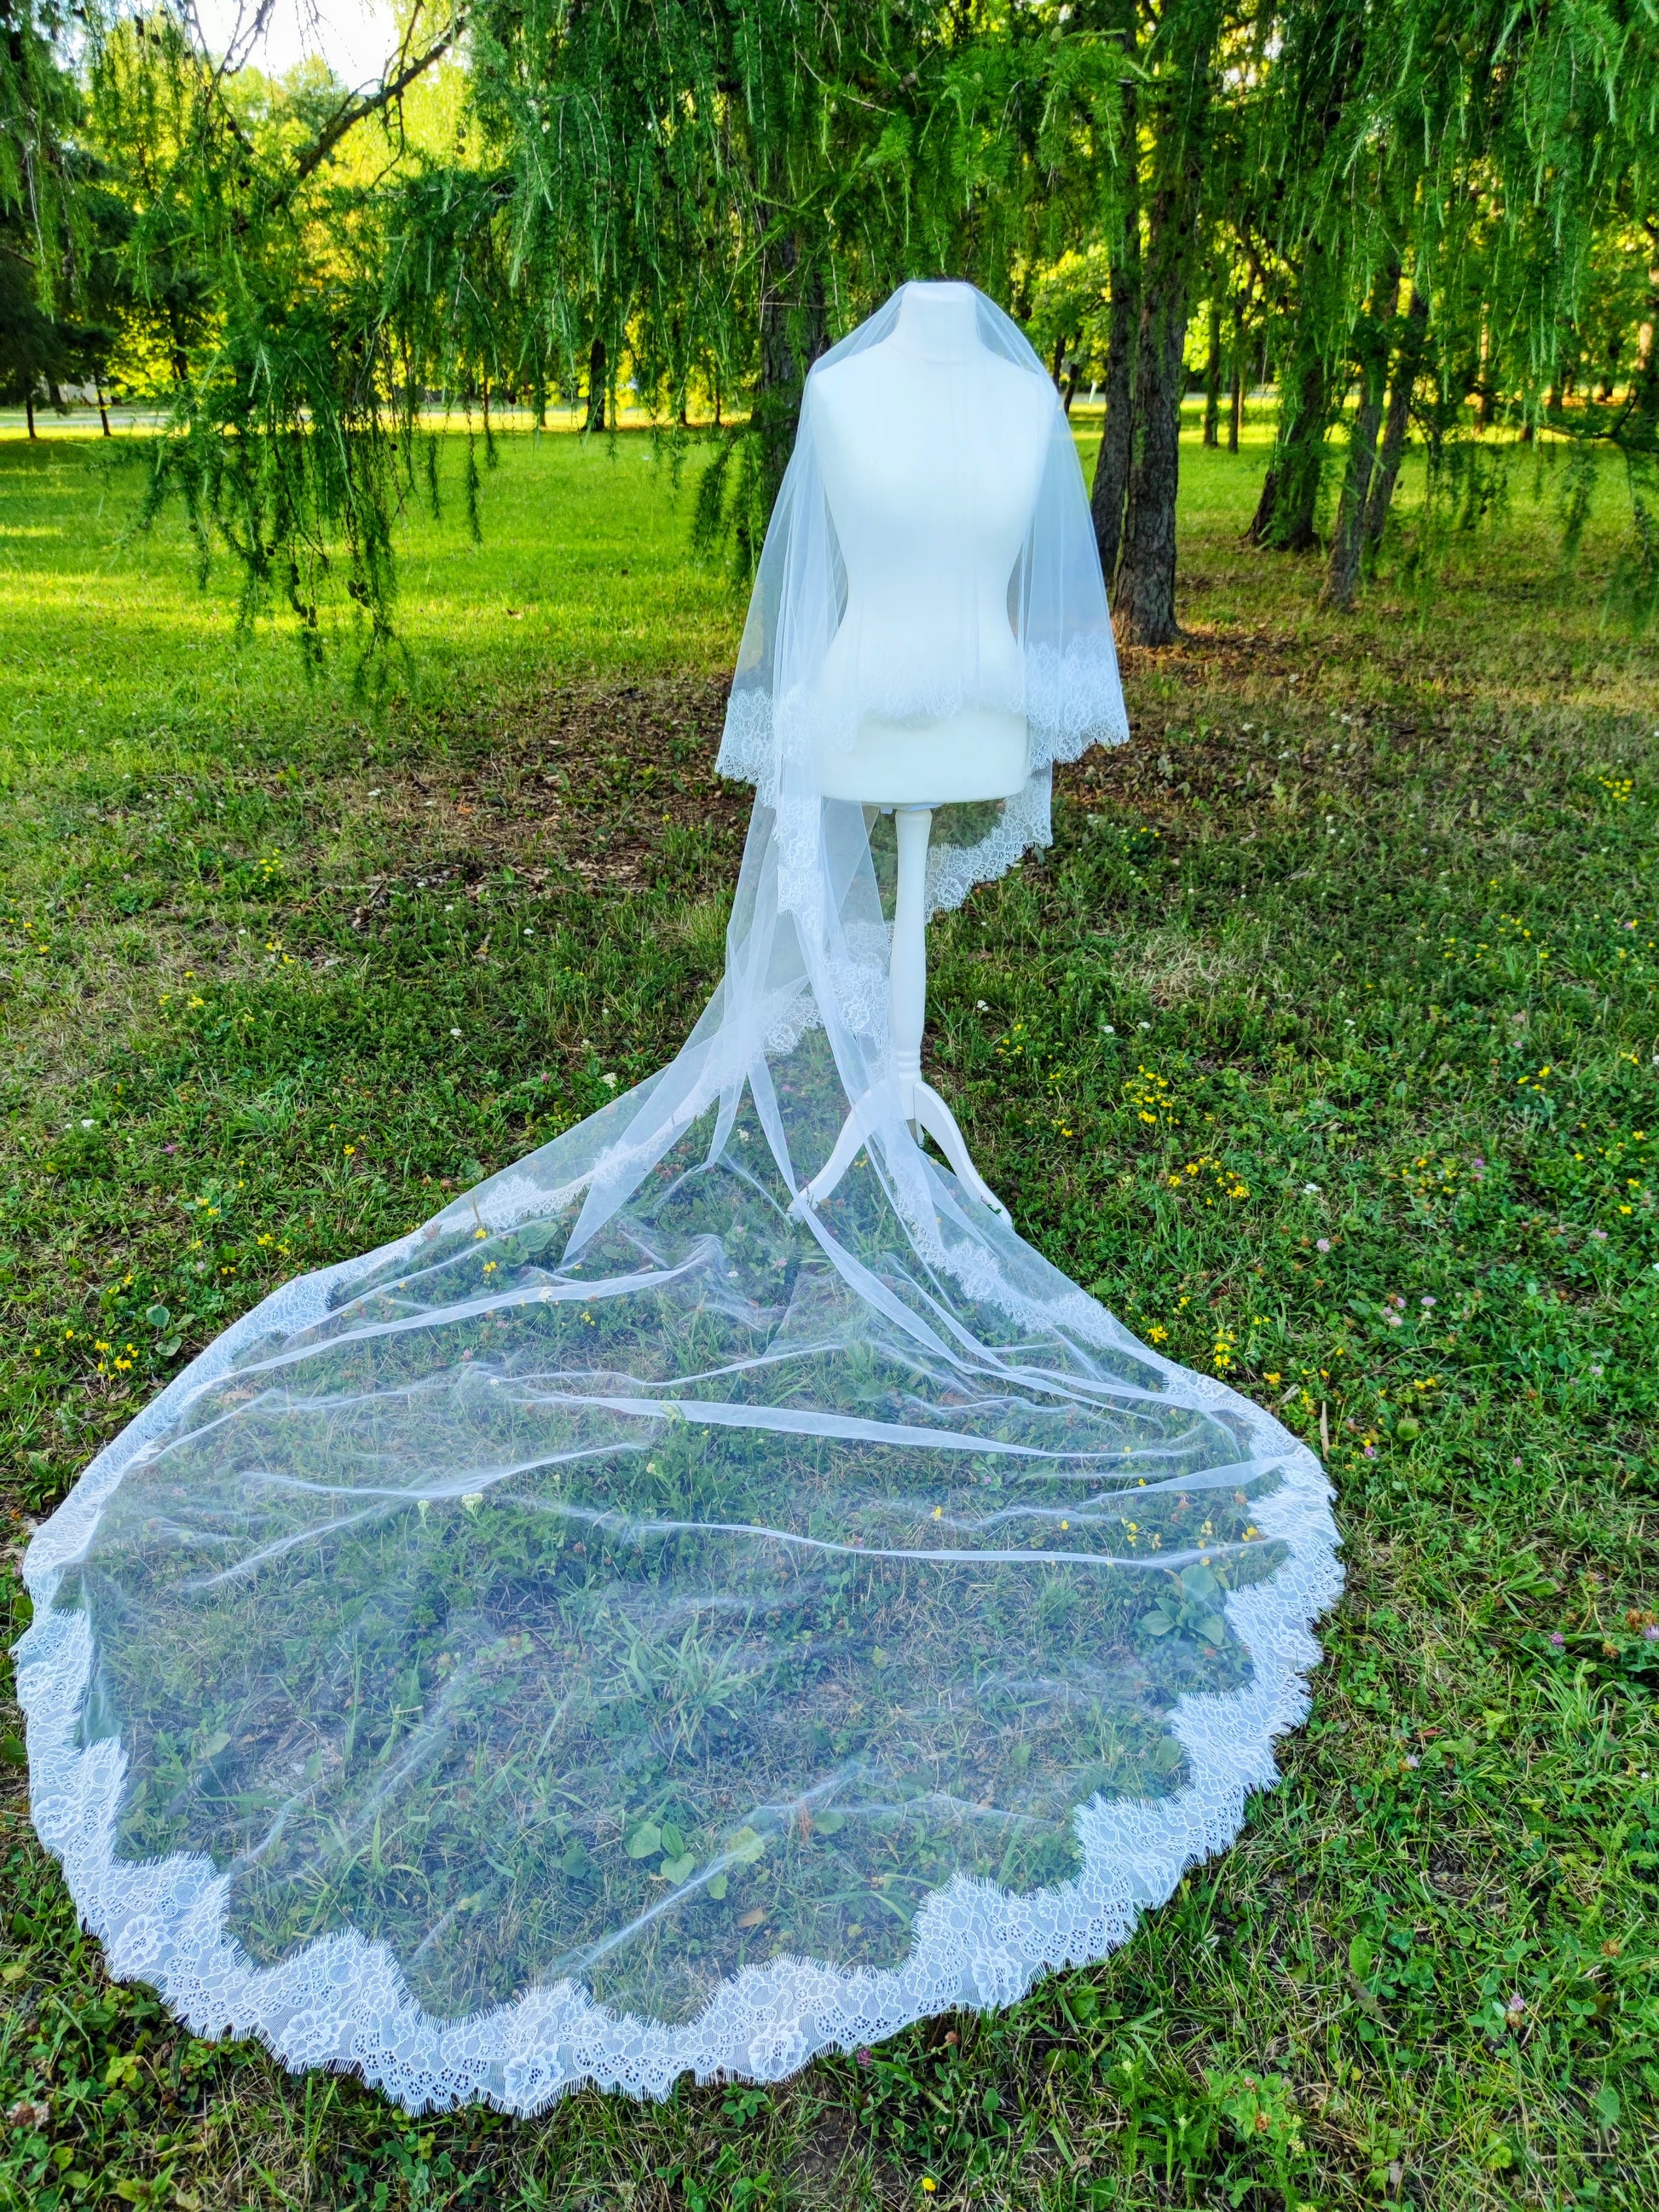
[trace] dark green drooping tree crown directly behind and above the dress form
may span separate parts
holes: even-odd
[[[745,394],[703,487],[743,557],[830,338],[902,276],[1006,296],[1015,248],[1093,177],[1115,82],[1055,29],[945,0],[487,0],[476,97],[522,281],[566,354],[626,352],[670,416],[695,378]]]

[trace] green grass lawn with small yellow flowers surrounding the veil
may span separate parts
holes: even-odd
[[[9,1705],[0,2205],[1659,2201],[1659,670],[1599,619],[1617,515],[1564,577],[1531,460],[1427,611],[1321,613],[1239,546],[1263,438],[1188,445],[1135,741],[936,927],[931,1073],[1033,1243],[1325,1453],[1349,1582],[1283,1787],[1009,2013],[416,2124],[108,1982]],[[29,1526],[164,1376],[719,975],[741,599],[644,434],[504,438],[482,544],[458,445],[372,699],[239,639],[177,520],[126,542],[131,449],[0,445],[15,1628]]]

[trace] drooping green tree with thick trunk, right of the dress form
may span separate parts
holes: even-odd
[[[1573,440],[1568,535],[1593,451],[1617,451],[1632,577],[1648,577],[1630,588],[1652,595],[1659,20],[1648,0],[1480,0],[1462,13],[1442,0],[1099,4],[1133,148],[1106,228],[1093,484],[1124,635],[1177,635],[1177,332],[1190,336],[1199,305],[1214,411],[1219,332],[1232,319],[1237,349],[1245,299],[1276,380],[1248,535],[1276,551],[1325,546],[1332,604],[1352,604],[1376,553],[1411,429],[1429,453],[1429,513],[1444,518],[1482,507],[1511,451],[1482,438],[1502,425]],[[1593,396],[1568,407],[1564,365],[1584,358],[1586,330],[1601,367]]]

